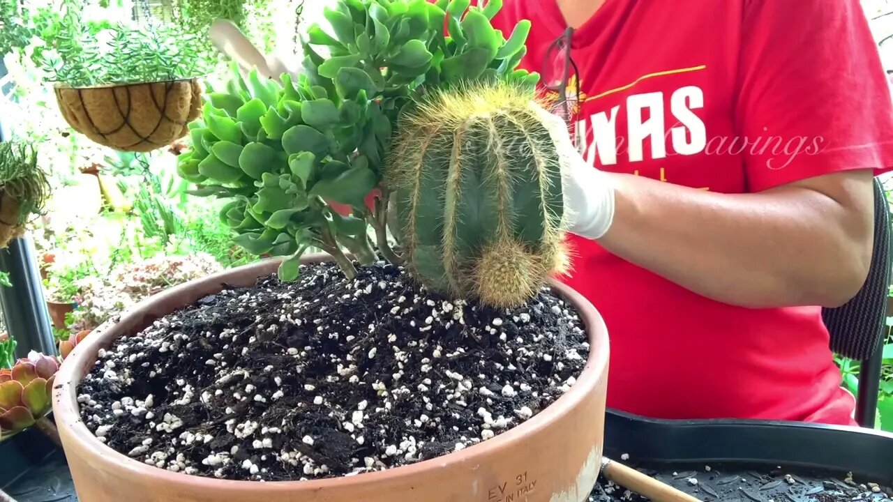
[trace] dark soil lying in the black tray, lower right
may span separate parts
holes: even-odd
[[[854,478],[851,473],[743,464],[641,465],[638,470],[704,502],[852,502],[893,498],[893,489]],[[589,498],[589,502],[647,500],[650,499],[603,478],[599,478]]]

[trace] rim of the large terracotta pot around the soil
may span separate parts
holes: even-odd
[[[238,481],[238,480],[221,480],[217,478],[198,476],[186,473],[174,473],[163,468],[147,465],[136,459],[130,458],[106,446],[104,443],[96,439],[96,436],[90,432],[87,426],[81,421],[79,406],[77,405],[77,386],[81,381],[82,375],[77,374],[77,369],[81,366],[90,368],[96,361],[98,349],[100,347],[109,347],[114,339],[124,336],[125,333],[117,333],[116,325],[131,319],[143,318],[142,325],[147,326],[156,319],[154,316],[146,318],[146,313],[142,312],[147,305],[155,302],[161,302],[168,297],[174,297],[179,292],[188,289],[209,289],[217,288],[227,284],[227,279],[232,277],[246,277],[246,272],[256,272],[258,278],[274,273],[279,262],[283,258],[271,258],[255,262],[254,264],[246,264],[234,269],[216,272],[212,275],[201,279],[192,280],[171,289],[166,289],[163,293],[154,297],[146,298],[143,302],[132,307],[128,312],[121,314],[117,322],[106,322],[103,326],[96,328],[90,336],[83,339],[71,354],[65,358],[59,372],[55,376],[55,385],[53,388],[53,411],[56,420],[56,426],[59,429],[66,428],[70,431],[71,436],[79,441],[80,447],[88,452],[91,456],[104,457],[105,461],[111,461],[117,464],[122,470],[129,471],[138,476],[152,477],[155,481],[179,485],[190,486],[217,486],[227,487],[230,489],[248,489],[257,487],[260,481]],[[318,263],[328,261],[328,255],[310,255],[302,260],[304,263]],[[555,422],[567,410],[579,406],[580,402],[589,396],[589,391],[597,387],[601,378],[601,373],[606,371],[608,366],[608,338],[605,322],[596,308],[588,302],[588,300],[580,295],[574,289],[564,285],[558,280],[549,280],[549,286],[559,296],[567,302],[570,302],[579,312],[580,320],[584,323],[585,330],[588,334],[589,355],[587,362],[577,377],[576,383],[563,396],[559,397],[538,414],[526,422],[513,427],[513,429],[498,434],[495,438],[488,439],[477,445],[464,448],[460,451],[447,453],[430,460],[421,461],[415,464],[403,465],[391,468],[385,471],[377,471],[374,473],[362,473],[353,476],[341,476],[337,478],[309,481],[263,481],[266,489],[282,489],[289,493],[296,490],[300,492],[314,492],[321,489],[328,489],[334,486],[345,487],[352,485],[361,485],[385,481],[394,478],[413,477],[418,473],[424,473],[431,467],[446,467],[450,464],[463,464],[474,462],[475,457],[488,452],[488,450],[498,450],[507,448],[509,445],[522,439],[524,436],[535,434],[537,431],[546,429],[550,423]],[[211,292],[205,294],[213,294]],[[142,329],[142,328],[141,328]],[[126,333],[131,336],[133,333]],[[90,364],[80,364],[83,359],[90,359]]]

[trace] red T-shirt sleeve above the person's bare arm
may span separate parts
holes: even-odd
[[[746,4],[735,117],[750,191],[893,166],[893,100],[859,0]],[[757,141],[759,140],[759,141]]]

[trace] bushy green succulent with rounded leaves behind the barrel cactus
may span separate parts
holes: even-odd
[[[532,96],[538,81],[516,70],[530,22],[506,39],[489,23],[501,2],[469,4],[340,0],[327,7],[334,36],[318,24],[309,29],[299,79],[283,75],[279,85],[253,71],[213,89],[203,117],[190,124],[180,174],[198,185],[196,195],[230,199],[221,219],[239,246],[288,256],[283,280],[296,278],[310,247],[354,277],[348,254],[360,264],[378,258],[370,227],[380,254],[401,263],[388,241],[393,192],[381,183],[401,111],[438,88],[505,81]]]

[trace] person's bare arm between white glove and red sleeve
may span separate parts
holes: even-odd
[[[726,195],[610,176],[613,224],[598,242],[702,296],[748,307],[836,306],[864,280],[871,249],[866,256],[853,243],[871,235],[871,222],[820,192]]]

